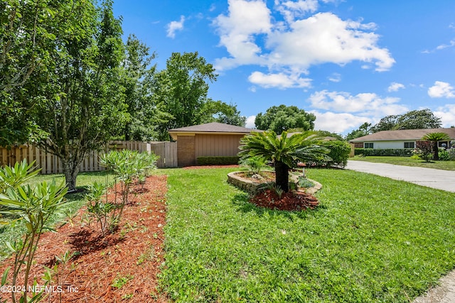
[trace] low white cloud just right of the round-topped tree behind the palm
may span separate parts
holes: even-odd
[[[371,122],[367,116],[355,116],[353,114],[342,113],[336,114],[331,111],[321,113],[319,111],[310,111],[316,116],[314,129],[321,131],[331,131],[333,133],[344,133],[357,128],[362,123]]]

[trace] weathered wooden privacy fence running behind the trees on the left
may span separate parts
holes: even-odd
[[[167,144],[170,143],[170,144]],[[146,143],[141,141],[109,141],[105,151],[109,150],[137,150],[151,152],[159,155],[158,167],[177,167],[177,143],[159,142]],[[153,148],[152,148],[153,146]],[[99,155],[105,152],[93,152],[87,155],[80,164],[80,172],[99,172],[105,170],[100,165]],[[28,163],[36,160],[36,165],[41,168],[41,174],[60,174],[63,165],[60,159],[51,153],[46,153],[34,145],[18,145],[11,149],[0,147],[0,165],[13,166],[14,163],[26,159]]]

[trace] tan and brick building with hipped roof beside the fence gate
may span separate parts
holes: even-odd
[[[236,156],[240,139],[255,131],[259,130],[213,122],[173,128],[168,132],[178,143],[178,166],[182,167],[196,165],[201,156]]]

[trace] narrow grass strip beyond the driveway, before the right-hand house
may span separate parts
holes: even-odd
[[[435,168],[437,170],[455,170],[455,161],[432,161],[425,162],[424,160],[416,160],[410,157],[395,157],[395,156],[367,156],[350,158],[349,160],[359,160],[368,162],[380,162],[395,165],[416,166]]]

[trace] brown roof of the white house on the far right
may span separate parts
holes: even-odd
[[[400,129],[397,131],[378,131],[371,135],[355,138],[349,142],[367,141],[414,141],[420,140],[427,133],[446,133],[451,139],[455,140],[455,128],[427,128],[427,129]]]

